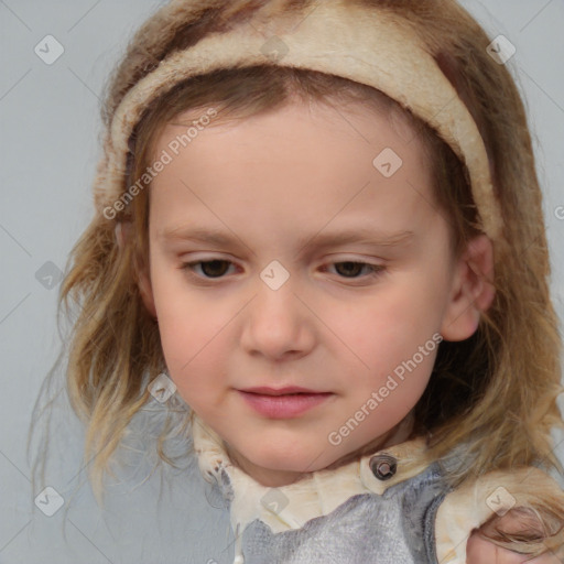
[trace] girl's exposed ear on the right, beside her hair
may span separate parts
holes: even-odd
[[[480,313],[491,305],[496,295],[494,281],[494,246],[486,235],[479,235],[457,260],[451,299],[441,335],[445,340],[464,340],[478,328]]]

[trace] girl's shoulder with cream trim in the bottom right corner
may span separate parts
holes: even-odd
[[[531,516],[534,517],[535,527],[531,527]],[[541,522],[535,516],[541,519],[542,516],[547,516],[547,522]],[[530,558],[539,549],[546,550],[549,545],[555,551],[558,550],[558,542],[560,546],[564,542],[564,491],[554,478],[536,467],[513,471],[496,470],[464,482],[448,492],[437,509],[437,561],[444,564],[465,564],[467,549],[487,543],[486,550],[490,544],[494,552],[491,560],[484,562],[497,562],[496,550],[501,549],[479,534],[496,529],[507,531],[514,538],[523,536],[523,533],[524,538],[531,536],[530,542],[522,540],[516,544],[521,556],[527,556],[523,554],[527,552],[527,557]],[[553,535],[553,544],[543,543],[542,538],[546,538],[546,531],[549,535]],[[532,539],[534,535],[536,539]],[[468,564],[480,564],[480,561],[468,561]]]

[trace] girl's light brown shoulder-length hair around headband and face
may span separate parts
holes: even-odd
[[[265,1],[208,1],[196,12],[186,2],[185,18],[178,17],[182,7],[174,18],[166,8],[158,11],[137,32],[110,77],[102,107],[106,128],[126,94],[163,58],[236,26]],[[279,3],[281,11],[305,12],[311,1]],[[454,0],[350,3],[390,10],[416,30],[484,138],[505,225],[495,245],[494,303],[470,338],[441,344],[414,410],[415,430],[429,436],[430,457],[456,463],[446,476],[452,487],[494,469],[535,465],[563,473],[550,434],[564,426],[556,404],[561,339],[549,292],[542,195],[516,84],[487,54],[490,40],[484,30]],[[196,76],[154,100],[131,135],[123,191],[141,178],[163,127],[182,112],[214,106],[219,122],[275,111],[295,98],[337,106],[358,101],[390,117],[401,115],[431,155],[434,197],[449,223],[454,252],[459,254],[480,232],[467,170],[427,124],[366,85],[275,64]],[[138,286],[149,252],[147,188],[115,219],[94,217],[69,254],[61,289],[59,313],[63,305],[69,311],[69,300],[78,305],[66,378],[73,409],[87,424],[85,459],[96,455],[90,467],[95,491],[101,490],[101,477],[130,421],[150,399],[148,382],[164,368],[159,326]],[[118,221],[130,221],[134,234],[122,247],[115,236]],[[184,413],[189,417],[188,410]],[[158,448],[172,463],[164,448],[167,430],[170,425]],[[460,445],[464,456],[458,457]],[[544,538],[555,538],[563,508],[541,499],[529,509],[541,519]],[[510,547],[514,535],[501,533],[490,540]]]

